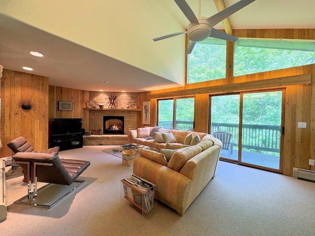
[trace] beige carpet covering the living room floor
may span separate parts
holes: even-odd
[[[109,146],[108,146],[109,147]],[[87,183],[52,209],[12,204],[26,194],[22,177],[7,184],[7,220],[1,236],[312,236],[315,183],[219,162],[214,179],[183,217],[158,203],[142,216],[121,194],[121,178],[132,173],[105,146],[60,152],[90,160]]]

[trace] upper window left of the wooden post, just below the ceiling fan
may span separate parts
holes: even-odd
[[[195,44],[188,56],[187,83],[225,78],[226,41],[207,38]]]

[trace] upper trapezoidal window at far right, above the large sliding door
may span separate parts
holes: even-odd
[[[315,63],[314,40],[239,39],[234,47],[234,76]]]

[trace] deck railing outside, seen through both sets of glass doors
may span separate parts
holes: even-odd
[[[158,125],[166,128],[173,128],[173,121],[160,121]],[[232,134],[232,140],[235,141],[234,147],[238,146],[239,125],[232,123],[211,124],[211,133],[216,131],[225,131]],[[243,124],[243,148],[271,151],[280,153],[280,126],[279,125],[259,125]],[[175,129],[192,130],[192,121],[176,120]]]

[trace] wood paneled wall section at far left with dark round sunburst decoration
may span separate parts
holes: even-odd
[[[11,156],[6,146],[23,136],[37,150],[48,148],[48,78],[3,70],[1,78],[1,157]],[[34,107],[23,110],[20,100],[31,100]]]

